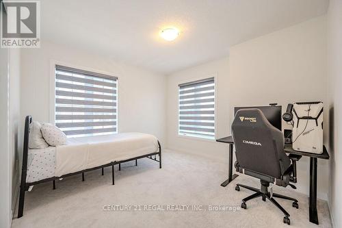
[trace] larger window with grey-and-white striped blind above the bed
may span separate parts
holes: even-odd
[[[118,133],[118,78],[55,66],[55,125],[68,137]]]

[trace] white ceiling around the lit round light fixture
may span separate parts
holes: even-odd
[[[328,0],[44,0],[41,7],[43,42],[169,74],[324,14]],[[169,26],[181,30],[173,42],[159,37]]]

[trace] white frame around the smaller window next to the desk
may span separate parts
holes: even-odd
[[[187,84],[187,83],[192,83],[194,81],[200,81],[204,79],[209,79],[213,77],[214,80],[214,138],[202,138],[199,136],[190,136],[190,135],[183,135],[179,133],[179,85],[181,84]],[[200,77],[191,77],[186,80],[179,81],[177,84],[177,129],[176,129],[176,134],[177,137],[179,138],[185,138],[185,139],[191,139],[191,140],[200,140],[200,141],[205,141],[205,142],[216,142],[216,138],[218,136],[218,99],[217,99],[217,94],[218,94],[218,73],[212,73],[209,75],[202,75]]]

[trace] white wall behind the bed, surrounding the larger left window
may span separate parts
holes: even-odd
[[[36,121],[51,121],[51,92],[54,92],[50,89],[51,63],[54,61],[118,76],[118,131],[154,134],[163,145],[166,116],[166,79],[163,75],[48,42],[42,43],[40,49],[23,50],[22,119],[31,115]]]

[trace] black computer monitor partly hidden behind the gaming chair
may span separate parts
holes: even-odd
[[[253,107],[235,107],[234,108],[234,115],[237,113],[238,110],[243,108],[257,108],[263,112],[267,121],[272,124],[274,127],[278,128],[280,131],[281,129],[281,105],[272,105],[272,106],[253,106]]]

